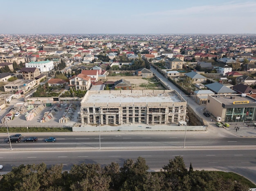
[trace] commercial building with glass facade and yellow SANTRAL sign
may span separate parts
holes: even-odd
[[[208,95],[206,109],[225,123],[255,121],[256,99],[246,94]]]

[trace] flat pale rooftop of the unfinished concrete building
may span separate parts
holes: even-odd
[[[166,93],[101,93],[89,94],[84,102],[89,103],[121,103],[121,102],[181,102],[174,92]]]

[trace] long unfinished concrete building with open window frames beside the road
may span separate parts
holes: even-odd
[[[177,124],[186,101],[175,90],[88,90],[81,101],[82,124]]]

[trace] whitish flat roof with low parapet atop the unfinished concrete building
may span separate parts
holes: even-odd
[[[172,90],[115,90],[90,91],[85,97],[87,103],[120,103],[120,102],[181,102],[177,92]]]

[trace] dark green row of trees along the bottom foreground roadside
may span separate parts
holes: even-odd
[[[148,172],[144,158],[128,159],[123,167],[115,162],[73,165],[63,172],[62,165],[47,167],[20,165],[2,176],[1,191],[248,191],[249,186],[224,178],[215,171],[186,169],[183,158],[176,156],[160,172]]]

